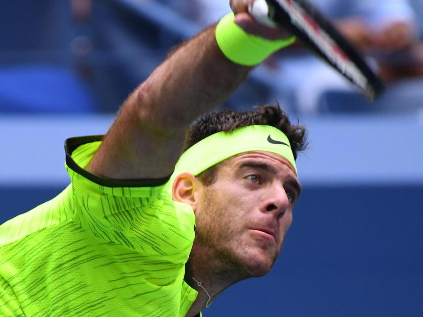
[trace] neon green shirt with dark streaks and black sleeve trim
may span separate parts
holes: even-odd
[[[175,317],[196,299],[183,280],[192,209],[172,200],[167,179],[85,171],[99,140],[68,139],[71,185],[0,226],[1,317]]]

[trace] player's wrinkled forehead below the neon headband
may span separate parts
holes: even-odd
[[[241,153],[224,160],[222,162],[222,166],[227,166],[230,168],[239,168],[243,166],[245,162],[250,160],[257,163],[263,162],[265,164],[271,165],[277,171],[288,172],[290,174],[293,174],[293,176],[297,178],[297,174],[292,164],[284,157],[271,152],[254,151]]]

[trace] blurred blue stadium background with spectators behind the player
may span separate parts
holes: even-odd
[[[220,108],[274,103],[309,128],[281,256],[212,316],[423,316],[423,1],[310,0],[386,82],[370,103],[301,43]],[[226,0],[15,0],[0,8],[0,223],[68,183],[63,142],[104,134],[128,94]],[[195,58],[195,56],[193,56]]]

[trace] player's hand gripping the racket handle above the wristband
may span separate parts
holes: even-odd
[[[248,13],[248,5],[255,0],[230,0],[230,6],[235,14],[234,22],[240,26],[245,32],[260,36],[267,40],[285,39],[292,34],[281,28],[271,28],[259,23],[254,17]]]

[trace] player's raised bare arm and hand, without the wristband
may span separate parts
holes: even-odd
[[[232,1],[232,7],[254,33],[257,23],[245,13],[243,1]],[[263,26],[257,32],[275,38],[275,31]],[[206,29],[170,54],[128,97],[88,170],[114,179],[170,175],[190,123],[224,101],[251,68],[226,58],[215,26]]]

